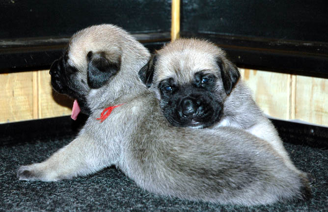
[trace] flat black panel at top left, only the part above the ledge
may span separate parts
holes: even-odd
[[[168,0],[2,0],[0,40],[70,37],[82,28],[115,24],[131,33],[170,31]]]

